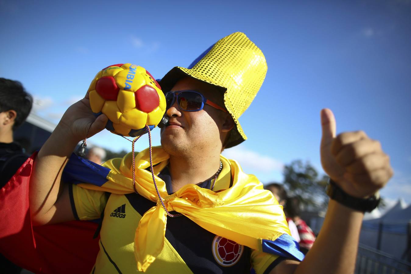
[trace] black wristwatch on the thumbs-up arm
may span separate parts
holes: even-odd
[[[372,212],[380,203],[380,196],[377,192],[367,199],[353,197],[344,192],[333,180],[328,180],[326,188],[327,195],[338,203],[361,212]]]

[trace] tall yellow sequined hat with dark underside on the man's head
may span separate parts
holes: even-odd
[[[226,148],[247,140],[238,118],[263,84],[267,63],[262,51],[242,32],[226,36],[203,52],[188,68],[174,67],[161,80],[168,92],[181,78],[191,76],[219,87],[224,105],[236,122]]]

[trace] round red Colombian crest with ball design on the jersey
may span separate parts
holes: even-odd
[[[229,239],[216,235],[212,241],[212,254],[219,265],[229,267],[240,260],[244,247]]]

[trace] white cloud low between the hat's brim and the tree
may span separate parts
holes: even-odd
[[[282,171],[284,164],[270,156],[259,154],[258,152],[248,150],[243,145],[226,149],[222,153],[229,159],[237,160],[243,169],[252,169],[256,171],[271,172]]]

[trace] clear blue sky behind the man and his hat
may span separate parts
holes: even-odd
[[[249,139],[224,154],[264,183],[282,181],[293,159],[321,170],[328,107],[338,132],[363,129],[390,155],[395,176],[382,196],[411,202],[410,0],[0,0],[0,75],[21,81],[36,113],[57,123],[103,67],[131,62],[161,78],[236,31],[261,48],[268,73],[240,118]],[[90,142],[130,149],[108,131]]]

